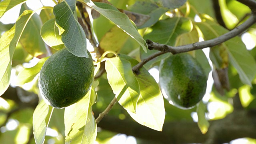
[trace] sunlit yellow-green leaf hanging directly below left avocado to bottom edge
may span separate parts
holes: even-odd
[[[92,144],[96,140],[97,129],[94,116],[91,111],[91,103],[95,100],[94,87],[76,104],[65,108],[65,143],[68,144]]]

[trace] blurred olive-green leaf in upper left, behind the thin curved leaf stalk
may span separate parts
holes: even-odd
[[[20,9],[20,14],[24,10],[29,10],[26,4],[22,4]],[[46,47],[42,37],[40,36],[40,28],[42,27],[42,22],[38,14],[33,14],[30,18],[26,27],[24,28],[22,35],[20,37],[20,43],[25,50],[34,57],[40,56],[46,53]]]

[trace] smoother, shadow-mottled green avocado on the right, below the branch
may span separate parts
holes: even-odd
[[[207,77],[195,58],[182,53],[160,62],[159,83],[169,103],[181,109],[190,109],[204,97]]]

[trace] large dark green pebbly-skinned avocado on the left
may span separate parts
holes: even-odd
[[[47,104],[65,108],[86,95],[94,79],[93,60],[88,54],[89,58],[81,58],[63,48],[46,60],[38,84]]]

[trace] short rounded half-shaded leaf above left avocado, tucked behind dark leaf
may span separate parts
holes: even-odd
[[[64,47],[64,44],[61,40],[61,36],[59,35],[59,29],[55,25],[55,20],[51,19],[44,23],[44,25],[41,28],[41,36],[44,40],[44,42],[56,49],[60,50]]]

